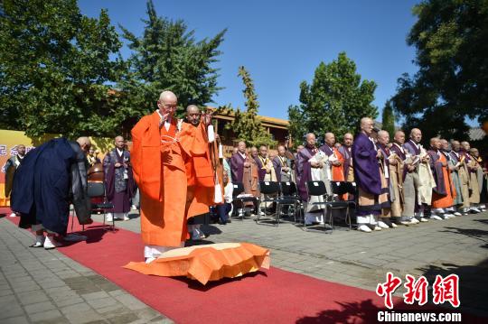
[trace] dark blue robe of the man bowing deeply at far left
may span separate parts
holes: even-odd
[[[20,227],[42,224],[45,229],[63,235],[68,227],[70,201],[89,201],[86,179],[80,179],[80,173],[86,177],[86,171],[78,169],[84,155],[80,145],[75,151],[75,145],[78,143],[56,138],[25,155],[15,172],[11,199],[12,210],[21,213]]]

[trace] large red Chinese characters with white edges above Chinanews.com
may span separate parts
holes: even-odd
[[[406,304],[413,304],[418,301],[418,305],[422,306],[427,303],[428,294],[427,278],[420,276],[418,280],[415,277],[407,274],[405,276],[406,282],[404,287],[407,290],[403,294],[403,301]],[[393,275],[393,273],[387,273],[386,282],[379,283],[376,287],[376,293],[380,297],[384,297],[385,306],[391,310],[393,309],[393,297],[392,294],[401,285],[401,279]],[[459,307],[461,301],[459,301],[459,277],[457,274],[449,274],[446,277],[436,275],[436,281],[432,286],[432,302],[436,305],[450,302],[453,307]]]

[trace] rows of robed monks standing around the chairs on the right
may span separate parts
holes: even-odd
[[[307,225],[323,224],[324,210],[315,204],[322,198],[310,197],[306,184],[324,181],[331,198],[355,202],[357,228],[362,232],[485,210],[487,165],[477,149],[468,142],[439,137],[430,139],[426,149],[418,128],[408,139],[401,130],[392,135],[390,142],[389,133],[366,117],[355,137],[344,134],[343,143],[336,143],[335,135],[326,133],[319,146],[315,134],[306,134],[296,153],[283,145],[274,156],[264,145],[248,152],[246,143],[239,142],[229,160],[231,180],[242,182],[246,193],[256,197],[260,181],[295,182]],[[352,182],[357,190],[337,195],[333,182]]]

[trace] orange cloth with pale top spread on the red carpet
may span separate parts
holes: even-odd
[[[150,264],[131,262],[124,266],[139,273],[164,277],[186,276],[206,284],[222,278],[269,269],[269,250],[249,243],[217,243],[176,248]]]

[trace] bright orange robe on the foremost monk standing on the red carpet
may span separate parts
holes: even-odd
[[[212,204],[209,145],[203,125],[173,118],[166,130],[159,119],[157,112],[144,116],[132,129],[141,235],[145,245],[180,246],[187,237],[187,218],[208,212]]]

